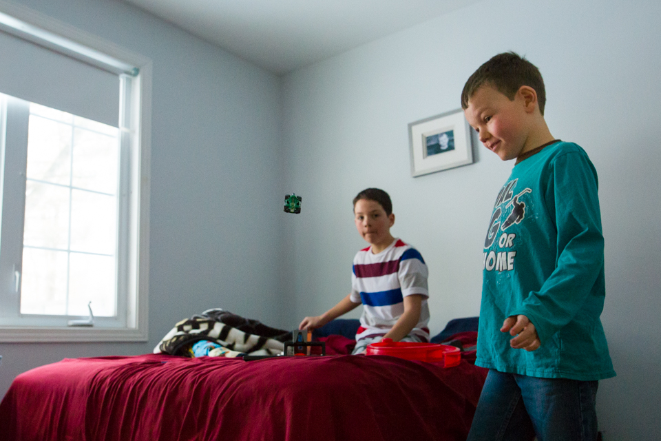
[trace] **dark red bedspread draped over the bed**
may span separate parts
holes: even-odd
[[[484,378],[388,356],[65,359],[14,380],[0,440],[465,440]]]

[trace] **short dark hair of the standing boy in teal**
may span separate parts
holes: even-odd
[[[514,100],[516,92],[522,85],[527,85],[537,92],[539,111],[544,115],[546,91],[542,74],[533,63],[516,52],[495,55],[473,72],[461,92],[463,110],[468,108],[468,100],[483,85],[491,85],[510,101]]]

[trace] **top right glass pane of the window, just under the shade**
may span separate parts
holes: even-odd
[[[116,194],[118,150],[116,136],[76,128],[72,185],[96,192]]]

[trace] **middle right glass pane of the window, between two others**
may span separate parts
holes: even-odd
[[[83,190],[71,192],[71,249],[115,254],[115,196]]]

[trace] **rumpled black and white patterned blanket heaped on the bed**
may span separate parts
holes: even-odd
[[[284,350],[284,342],[291,340],[291,332],[224,309],[207,309],[178,322],[156,345],[154,353],[191,356],[191,345],[200,340],[216,342],[224,348],[210,351],[209,356],[276,355]]]

